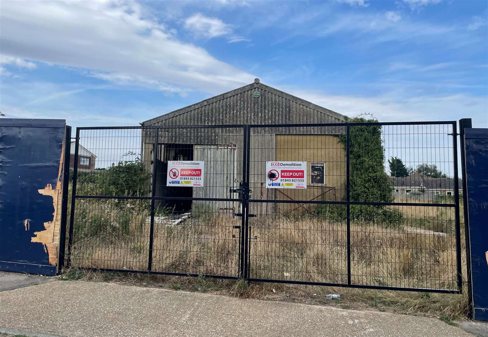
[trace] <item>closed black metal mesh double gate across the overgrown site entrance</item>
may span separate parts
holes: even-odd
[[[458,293],[456,132],[455,122],[77,128],[68,264]],[[180,162],[203,162],[202,186],[168,184]],[[266,162],[305,162],[306,189],[283,177],[271,186]]]

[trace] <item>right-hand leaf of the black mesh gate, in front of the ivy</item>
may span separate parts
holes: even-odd
[[[248,279],[461,291],[453,134],[454,122],[250,126]],[[272,167],[294,164],[302,180]]]

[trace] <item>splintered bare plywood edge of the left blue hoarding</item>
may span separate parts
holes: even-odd
[[[56,187],[53,190],[51,184],[47,184],[44,189],[38,190],[42,195],[49,195],[53,198],[53,220],[44,222],[44,230],[34,232],[36,236],[31,237],[31,242],[39,242],[44,246],[44,252],[49,254],[49,264],[56,266],[58,264],[58,253],[60,244],[61,229],[61,204],[62,204],[62,185],[61,172],[64,158],[64,141],[61,149],[60,167],[58,170],[58,179]]]

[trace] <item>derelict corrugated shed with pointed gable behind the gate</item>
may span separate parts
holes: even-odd
[[[202,102],[165,113],[141,123],[142,158],[152,170],[155,128],[159,128],[156,160],[156,196],[230,198],[229,190],[243,181],[244,127],[251,128],[249,143],[249,184],[251,199],[341,200],[345,195],[346,151],[337,126],[272,127],[273,124],[343,123],[345,117],[284,91],[254,83],[211,97]],[[164,126],[181,126],[166,128]],[[187,126],[210,126],[192,128]],[[170,161],[204,161],[203,187],[166,186]],[[266,161],[307,162],[303,190],[267,189]],[[193,201],[195,202],[195,201]],[[239,203],[212,203],[219,211],[237,212]],[[303,210],[303,205],[281,204],[281,213]],[[165,200],[160,206],[189,210],[192,201]],[[193,204],[194,206],[194,204]],[[257,206],[256,206],[257,207]],[[275,213],[267,204],[257,207],[261,214]],[[306,205],[305,205],[306,207]]]

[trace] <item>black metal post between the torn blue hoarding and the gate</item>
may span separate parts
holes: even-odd
[[[60,248],[58,256],[58,273],[64,266],[64,250],[66,243],[66,217],[68,212],[68,190],[69,190],[69,160],[71,157],[71,126],[66,126],[64,137],[64,158],[62,176],[62,204],[61,204],[61,228],[60,228]]]

